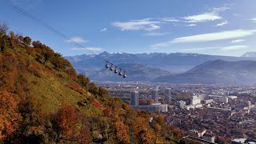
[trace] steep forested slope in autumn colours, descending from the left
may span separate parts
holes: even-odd
[[[161,115],[110,98],[61,54],[0,25],[0,143],[170,143],[181,136]]]

